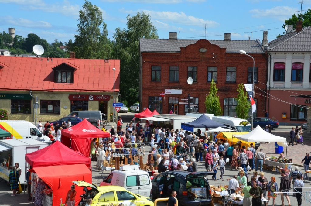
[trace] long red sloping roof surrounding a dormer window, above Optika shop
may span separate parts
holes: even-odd
[[[66,63],[75,68],[73,83],[54,82],[52,68]],[[45,57],[0,56],[0,90],[33,91],[119,91],[120,60],[104,59],[58,59]]]

